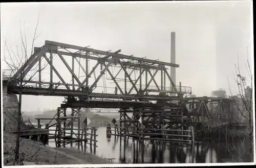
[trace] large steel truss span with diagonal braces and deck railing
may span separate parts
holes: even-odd
[[[162,95],[156,93],[166,95],[165,99],[171,93],[191,93],[191,87],[176,86],[168,73],[170,66],[179,67],[178,64],[123,55],[120,52],[121,50],[105,52],[90,47],[45,41],[44,46],[34,48],[34,54],[22,67],[3,70],[3,75],[11,81],[17,80],[20,74],[29,79],[30,75],[34,75],[29,74],[30,70],[36,69],[36,78],[23,81],[26,85],[22,93],[30,95],[161,100]],[[53,55],[58,57],[58,61]],[[46,61],[48,68],[42,69],[43,61]],[[66,67],[65,73],[63,69],[58,70],[59,64]],[[109,81],[109,86],[106,86],[106,81]],[[96,89],[100,88],[98,83],[103,83],[103,91]],[[9,85],[9,88],[13,93],[17,93],[19,89],[18,85]]]

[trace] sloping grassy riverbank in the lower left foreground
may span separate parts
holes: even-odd
[[[4,165],[13,165],[16,136],[4,132]],[[19,143],[20,161],[46,164],[107,164],[111,163],[91,153],[84,153],[77,149],[51,148],[42,143],[22,138]]]

